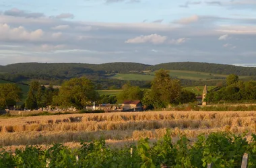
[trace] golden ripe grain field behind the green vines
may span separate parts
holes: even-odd
[[[256,112],[131,112],[67,114],[0,119],[0,146],[51,144],[105,138],[127,142],[148,137],[161,138],[170,129],[196,138],[216,131],[255,133]],[[174,138],[175,139],[175,138]]]

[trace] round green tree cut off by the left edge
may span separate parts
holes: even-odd
[[[22,89],[16,84],[1,83],[0,84],[0,109],[15,106],[22,98]]]

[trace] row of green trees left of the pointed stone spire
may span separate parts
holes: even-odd
[[[172,79],[169,71],[161,69],[156,73],[150,89],[125,83],[117,96],[99,95],[96,85],[86,77],[72,78],[65,81],[60,89],[53,86],[44,87],[38,81],[30,83],[24,108],[34,110],[46,106],[75,107],[83,109],[97,103],[122,103],[125,99],[141,100],[151,108],[165,108],[171,103],[187,103],[195,101],[195,94],[183,89],[179,79]],[[12,91],[12,92],[11,92]],[[13,93],[15,92],[15,93]],[[15,106],[22,98],[22,91],[15,84],[1,84],[1,108]]]

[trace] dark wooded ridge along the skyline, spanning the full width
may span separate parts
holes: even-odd
[[[73,77],[83,74],[129,73],[130,71],[156,71],[159,69],[197,71],[228,75],[234,73],[241,76],[256,76],[256,67],[238,67],[207,62],[169,62],[158,65],[146,65],[135,62],[110,62],[104,64],[85,63],[18,63],[0,66],[1,73],[26,75],[59,75]]]

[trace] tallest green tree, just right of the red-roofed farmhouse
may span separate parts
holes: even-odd
[[[172,79],[170,71],[160,69],[152,81],[150,97],[154,101],[154,108],[165,108],[175,103],[181,95],[182,87],[178,79]]]

